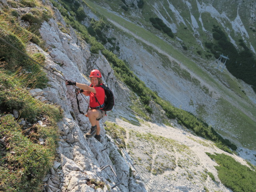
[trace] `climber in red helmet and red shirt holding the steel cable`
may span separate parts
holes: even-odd
[[[106,115],[106,111],[102,110],[104,107],[105,100],[105,91],[100,85],[103,84],[100,71],[94,69],[90,73],[91,85],[81,84],[66,80],[66,85],[75,85],[80,90],[79,93],[84,94],[85,96],[90,96],[89,110],[86,114],[89,121],[92,125],[90,131],[86,133],[87,138],[92,138],[93,136],[100,141],[100,119]]]

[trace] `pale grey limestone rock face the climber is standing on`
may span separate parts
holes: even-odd
[[[139,180],[130,178],[130,166],[118,152],[114,141],[106,135],[102,125],[106,118],[100,121],[102,142],[98,142],[95,138],[85,138],[84,134],[90,128],[90,122],[78,111],[75,88],[66,86],[64,80],[55,74],[62,76],[63,79],[89,85],[90,82],[84,76],[88,76],[90,70],[96,68],[102,72],[104,82],[114,94],[125,96],[126,93],[122,91],[122,85],[116,80],[106,58],[102,54],[92,55],[90,45],[80,40],[72,28],[69,28],[69,34],[60,31],[57,22],[63,26],[66,24],[58,10],[54,18],[44,22],[40,28],[40,34],[46,41],[49,53],[35,44],[29,45],[46,56],[47,68],[55,69],[53,73],[47,72],[50,86],[44,90],[31,90],[31,95],[58,104],[64,110],[64,118],[58,122],[61,132],[57,149],[58,159],[54,162],[51,174],[44,178],[45,190],[48,192],[108,191],[118,184],[119,179],[120,184],[112,191],[146,191]],[[80,109],[85,112],[88,97],[82,97],[79,94],[78,100]],[[105,166],[108,167],[104,168]],[[100,184],[104,184],[104,187],[97,188]]]

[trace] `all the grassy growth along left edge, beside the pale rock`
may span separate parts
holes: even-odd
[[[29,41],[40,44],[42,40],[20,27],[17,18],[8,11],[0,13],[0,37],[30,54],[26,52],[26,44]],[[42,54],[30,56],[44,64]],[[0,191],[42,191],[42,179],[55,159],[59,137],[56,124],[63,117],[62,110],[30,96],[28,89],[44,88],[48,81],[38,64],[2,42],[0,58]],[[13,110],[18,111],[18,119],[8,115]],[[42,118],[45,127],[34,124]],[[18,122],[22,119],[30,125],[20,126]],[[44,139],[44,145],[39,138]]]

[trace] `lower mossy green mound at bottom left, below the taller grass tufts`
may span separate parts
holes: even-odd
[[[22,82],[22,77],[10,71],[0,70],[0,107],[2,113],[18,110],[19,118],[30,123],[44,116],[48,126],[29,128],[19,126],[10,115],[0,115],[0,190],[39,191],[42,178],[54,160],[58,128],[56,122],[62,118],[62,110],[57,106],[44,104],[30,96]],[[44,146],[38,139],[45,140]]]

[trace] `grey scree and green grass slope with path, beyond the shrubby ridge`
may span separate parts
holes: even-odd
[[[215,69],[214,66],[217,67],[218,64],[214,61],[199,58],[192,52],[184,50],[182,51],[184,54],[181,54],[177,48],[174,48],[179,47],[179,41],[170,41],[165,37],[156,38],[154,34],[123,19],[124,17],[130,19],[129,16],[114,14],[89,1],[88,3],[108,19],[119,23],[122,28],[128,28],[136,36],[140,36],[144,41],[157,47],[155,52],[154,49],[151,50],[150,47],[136,40],[128,40],[125,38],[126,35],[118,36],[118,30],[107,32],[109,36],[115,36],[119,40],[120,57],[128,62],[138,77],[152,90],[158,91],[174,106],[198,115],[217,128],[220,134],[232,138],[235,142],[245,144],[251,149],[255,148],[255,135],[251,133],[254,133],[256,128],[254,118],[256,96],[249,86],[236,80],[226,70],[221,72]],[[159,49],[175,57],[176,62],[162,56],[162,52],[158,54]],[[146,51],[138,54],[138,50]],[[154,67],[156,63],[158,63],[157,68]],[[158,77],[161,77],[161,81],[164,82],[159,81]],[[166,86],[170,89],[166,89]]]

